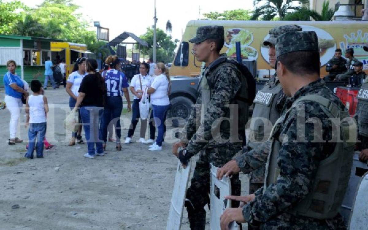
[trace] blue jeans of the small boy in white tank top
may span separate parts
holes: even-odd
[[[43,157],[43,139],[46,135],[46,122],[43,123],[30,123],[28,129],[28,150],[25,153],[25,157],[33,159],[33,150],[36,147],[36,157]],[[37,144],[36,144],[37,138]]]

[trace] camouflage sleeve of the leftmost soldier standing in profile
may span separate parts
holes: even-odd
[[[223,67],[216,76],[211,100],[204,114],[203,122],[187,145],[187,151],[197,154],[212,139],[212,124],[224,117],[229,110],[230,101],[240,88],[237,73],[231,67]]]

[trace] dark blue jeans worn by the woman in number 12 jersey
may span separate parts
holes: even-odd
[[[115,124],[116,143],[120,143],[121,138],[120,116],[122,110],[123,110],[123,99],[121,98],[121,96],[105,97],[105,109],[103,111],[102,125],[101,125],[103,142],[107,141],[107,128],[109,127],[110,122],[113,122]]]

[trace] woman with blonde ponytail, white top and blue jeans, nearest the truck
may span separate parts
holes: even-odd
[[[163,136],[165,132],[165,117],[166,112],[170,107],[170,76],[165,64],[159,62],[155,65],[155,79],[151,84],[151,87],[147,90],[148,94],[151,94],[151,103],[153,111],[153,119],[155,125],[158,127],[158,134],[155,144],[151,145],[149,151],[161,151]]]

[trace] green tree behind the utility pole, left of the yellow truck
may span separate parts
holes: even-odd
[[[148,55],[150,58],[153,57],[153,29],[147,27],[147,32],[144,35],[140,36],[141,39],[145,40],[148,43],[148,47],[141,47],[141,53],[144,55]],[[176,48],[176,44],[179,42],[178,39],[175,39],[174,42],[171,40],[171,36],[167,36],[167,34],[162,30],[156,29],[156,61],[168,63],[174,59],[174,50]],[[138,49],[138,47],[136,48]]]

